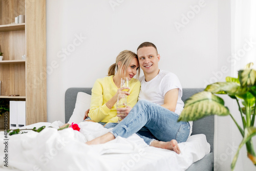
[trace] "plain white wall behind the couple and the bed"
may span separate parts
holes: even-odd
[[[112,8],[111,2],[116,6]],[[229,0],[47,1],[48,122],[65,122],[68,88],[92,87],[107,74],[120,51],[136,52],[144,41],[158,47],[160,69],[177,74],[183,88],[224,81],[232,70],[227,62],[230,23]],[[228,117],[216,121],[220,139],[216,139],[215,158],[218,170],[228,170],[232,154],[223,160],[220,155],[231,144],[227,134],[232,129],[223,129],[232,122]]]

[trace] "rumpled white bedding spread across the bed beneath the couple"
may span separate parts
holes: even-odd
[[[105,144],[85,142],[110,130],[98,123],[79,123],[80,132],[71,128],[57,131],[62,123],[39,122],[26,128],[47,127],[40,133],[8,135],[8,153],[4,152],[6,138],[0,132],[0,170],[185,170],[210,152],[203,134],[190,136],[179,143],[181,154],[148,146],[136,134],[117,137]],[[8,155],[8,167],[4,157]]]

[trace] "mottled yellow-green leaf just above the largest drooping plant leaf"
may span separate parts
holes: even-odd
[[[216,82],[209,84],[205,91],[215,94],[228,94],[229,96],[241,95],[247,92],[246,88],[241,88],[237,82]]]

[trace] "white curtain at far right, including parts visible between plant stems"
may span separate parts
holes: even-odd
[[[232,76],[237,77],[238,71],[253,62],[256,69],[256,1],[255,0],[231,0],[231,71]],[[240,114],[236,102],[233,102],[233,116],[241,123]],[[237,113],[236,113],[237,112]],[[238,145],[242,137],[237,131],[236,125],[231,124],[231,141]],[[256,138],[253,138],[256,149]],[[234,154],[233,154],[234,155]],[[232,155],[232,159],[233,159]],[[234,170],[256,170],[256,167],[247,158],[246,147],[240,151],[239,160]]]

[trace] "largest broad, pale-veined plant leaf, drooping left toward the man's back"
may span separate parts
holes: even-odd
[[[198,120],[208,115],[229,115],[229,110],[224,106],[222,98],[203,91],[189,97],[185,101],[184,109],[178,121]]]

